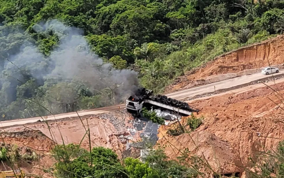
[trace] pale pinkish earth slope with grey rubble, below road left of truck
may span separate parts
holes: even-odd
[[[79,144],[83,139],[81,143],[82,147],[89,149],[89,139],[87,136],[84,137],[89,126],[92,147],[102,146],[111,148],[119,157],[122,155],[123,150],[125,150],[125,145],[119,140],[118,136],[130,134],[127,131],[127,128],[130,127],[128,120],[132,119],[130,114],[125,111],[115,111],[100,115],[90,115],[81,119],[77,117],[72,120],[57,120],[48,125],[46,123],[37,123],[29,125],[28,127],[33,130],[41,131],[57,144],[63,144],[63,141],[65,144]],[[21,129],[23,129],[23,126],[13,127],[7,130],[18,131]],[[29,139],[31,138],[27,140]],[[33,142],[30,144],[33,145]]]

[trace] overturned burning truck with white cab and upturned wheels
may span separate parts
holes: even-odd
[[[130,113],[138,114],[143,107],[171,111],[181,116],[189,116],[192,112],[198,113],[200,111],[189,106],[186,102],[168,98],[165,95],[154,95],[152,90],[139,88],[134,95],[126,100],[126,109]]]

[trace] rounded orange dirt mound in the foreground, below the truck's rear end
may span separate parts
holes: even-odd
[[[241,171],[240,168],[235,165],[242,166],[242,163],[233,152],[233,149],[231,149],[229,143],[221,140],[212,133],[207,131],[193,132],[190,135],[182,134],[168,141],[161,139],[159,143],[169,145],[169,147],[166,147],[165,153],[170,158],[175,159],[177,156],[181,156],[179,150],[188,148],[191,156],[197,155],[205,158],[211,168],[217,173]]]

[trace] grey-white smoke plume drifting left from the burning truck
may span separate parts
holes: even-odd
[[[48,79],[79,81],[93,92],[109,88],[115,96],[115,103],[124,101],[137,89],[137,73],[128,69],[116,70],[111,64],[104,63],[102,59],[90,51],[82,30],[65,26],[57,20],[39,23],[33,29],[38,33],[52,31],[59,37],[58,46],[51,51],[49,57],[45,57],[36,45],[27,40],[23,42],[18,52],[14,52],[14,55],[9,56],[5,61],[2,73],[18,80],[21,80],[20,73],[24,70],[39,81]],[[9,35],[15,34],[8,33]],[[5,39],[9,38],[6,36]],[[9,80],[13,79],[9,78]],[[13,81],[8,81],[7,77],[2,75],[0,82],[10,82],[10,87],[8,84],[6,88],[1,86],[1,91],[7,92],[12,87],[10,92],[12,97],[9,100],[14,101],[16,91],[14,91]]]

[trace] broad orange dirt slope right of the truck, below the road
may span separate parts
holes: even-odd
[[[284,83],[271,87],[283,96]],[[269,87],[262,87],[190,104],[202,108],[200,114],[205,116],[205,123],[197,130],[206,130],[228,141],[247,165],[248,158],[255,160],[258,151],[273,149],[284,139],[283,110],[276,110],[281,96]]]

